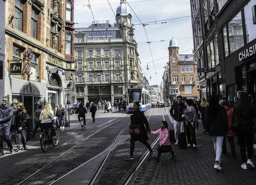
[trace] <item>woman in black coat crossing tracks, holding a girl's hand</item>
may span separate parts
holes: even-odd
[[[134,113],[133,113],[133,124],[139,124],[141,126],[141,135],[135,135],[131,133],[131,147],[130,147],[130,155],[125,157],[125,160],[134,159],[133,152],[134,152],[134,145],[135,142],[139,141],[142,142],[149,150],[149,158],[154,156],[154,151],[152,150],[151,146],[148,144],[148,134],[147,131],[150,131],[148,120],[146,119],[143,112],[140,111],[140,103],[138,101],[134,102],[133,104]],[[145,126],[146,128],[145,128]]]

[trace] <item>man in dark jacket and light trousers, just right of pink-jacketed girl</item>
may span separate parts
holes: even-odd
[[[181,131],[184,131],[184,123],[183,123],[183,119],[182,119],[182,113],[183,110],[185,108],[185,104],[183,104],[181,102],[182,100],[182,96],[178,95],[177,96],[177,102],[175,102],[175,104],[172,104],[172,107],[170,109],[170,113],[171,116],[173,118],[173,128],[174,128],[174,132],[175,132],[175,139],[176,139],[176,143],[175,145],[178,144],[178,138],[179,138],[179,133]]]

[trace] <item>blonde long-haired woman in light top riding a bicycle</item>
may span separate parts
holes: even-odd
[[[51,127],[52,128],[52,139],[53,140],[57,139],[57,137],[55,136],[54,126],[52,124],[52,121],[54,121],[54,116],[53,116],[51,104],[49,104],[49,103],[45,104],[44,110],[42,110],[39,119],[41,120],[42,129],[44,129],[44,127]]]

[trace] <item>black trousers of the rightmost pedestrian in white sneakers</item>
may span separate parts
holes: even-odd
[[[240,142],[240,153],[242,160],[243,162],[246,162],[246,144],[248,159],[252,159],[253,156],[253,125],[243,125],[242,130],[236,130],[236,134]]]

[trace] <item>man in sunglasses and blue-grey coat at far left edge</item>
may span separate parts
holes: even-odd
[[[10,153],[13,152],[12,142],[9,139],[10,127],[12,124],[13,108],[9,105],[9,97],[3,97],[3,104],[0,106],[0,157],[3,153],[3,139],[10,146]]]

